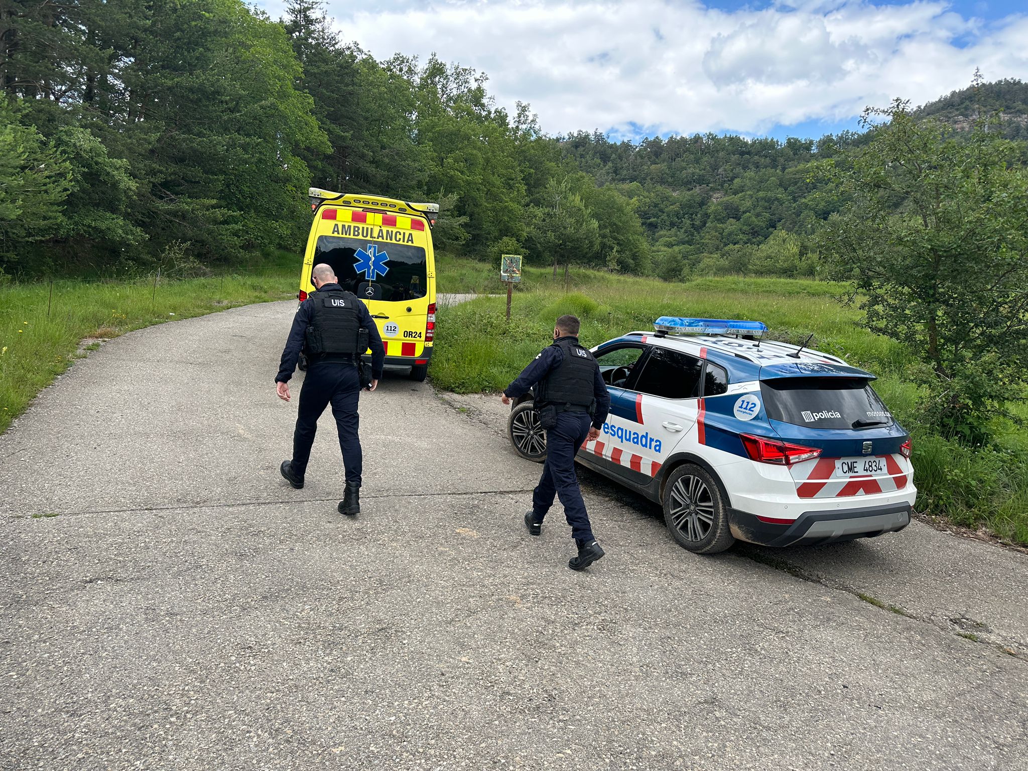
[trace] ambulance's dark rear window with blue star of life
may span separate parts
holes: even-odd
[[[425,250],[409,244],[321,235],[315,264],[327,262],[339,286],[362,300],[401,302],[428,293]]]

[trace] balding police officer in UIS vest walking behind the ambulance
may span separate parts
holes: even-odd
[[[339,502],[340,514],[359,514],[361,504],[362,454],[357,434],[357,405],[361,394],[359,368],[361,354],[371,347],[371,378],[368,391],[374,391],[382,376],[386,352],[378,328],[367,306],[339,286],[335,271],[326,264],[311,271],[314,292],[296,311],[286,348],[274,381],[279,398],[290,400],[289,378],[296,369],[300,350],[307,355],[307,374],[300,389],[299,414],[293,433],[293,460],[283,461],[282,476],[296,489],[303,486],[303,475],[310,458],[310,445],[318,430],[318,418],[329,403],[339,432],[346,488]]]

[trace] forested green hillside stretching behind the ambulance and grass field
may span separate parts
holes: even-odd
[[[347,44],[317,0],[283,20],[241,0],[5,0],[0,40],[0,273],[23,278],[299,251],[310,184],[438,199],[437,243],[472,256],[813,276],[810,236],[841,203],[809,164],[861,141],[548,137],[485,74]],[[1017,132],[1026,87],[922,113],[961,126],[1007,106]]]

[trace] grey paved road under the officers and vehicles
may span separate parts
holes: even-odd
[[[585,475],[609,556],[575,574],[502,412],[401,378],[344,520],[330,417],[278,474],[293,307],[113,340],[0,437],[0,768],[1028,768],[1023,555],[699,558]]]

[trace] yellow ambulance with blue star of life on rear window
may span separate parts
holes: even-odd
[[[411,378],[424,380],[436,328],[432,226],[439,205],[317,187],[308,195],[314,223],[300,271],[300,302],[315,291],[311,268],[328,263],[339,286],[363,300],[378,325],[386,367],[409,368]]]

